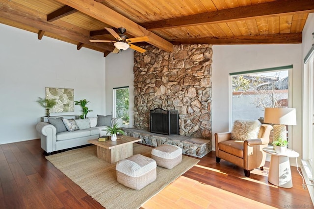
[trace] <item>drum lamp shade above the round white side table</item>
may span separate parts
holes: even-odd
[[[281,125],[296,125],[295,108],[265,108],[264,122]]]

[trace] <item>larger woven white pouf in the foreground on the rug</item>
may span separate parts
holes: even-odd
[[[133,155],[116,164],[117,181],[129,188],[140,190],[157,177],[156,161],[143,155]]]

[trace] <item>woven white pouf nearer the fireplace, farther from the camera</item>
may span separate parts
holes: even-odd
[[[162,144],[152,150],[152,158],[158,166],[171,169],[182,162],[182,149],[175,145]]]

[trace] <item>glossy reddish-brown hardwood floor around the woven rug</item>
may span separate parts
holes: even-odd
[[[241,168],[216,163],[214,152],[200,160],[143,208],[314,208],[295,167],[293,188],[280,188],[267,182],[268,163],[245,178]],[[103,207],[48,162],[35,139],[0,145],[0,209],[24,208]]]

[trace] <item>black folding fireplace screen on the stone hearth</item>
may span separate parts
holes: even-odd
[[[157,134],[179,135],[179,113],[177,110],[150,110],[150,131]]]

